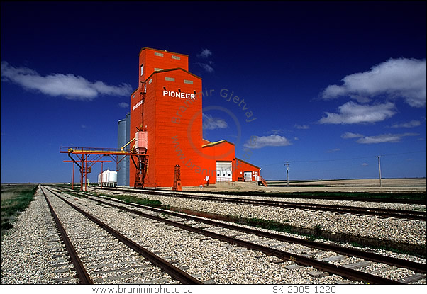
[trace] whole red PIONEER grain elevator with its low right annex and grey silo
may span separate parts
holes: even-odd
[[[265,183],[259,167],[235,157],[233,143],[203,138],[201,91],[201,78],[188,71],[188,55],[140,50],[138,89],[131,94],[130,113],[118,121],[118,147],[143,134],[147,161],[121,161],[118,186],[138,186],[143,176],[145,187],[172,187],[177,165],[182,186],[206,185],[208,179]]]

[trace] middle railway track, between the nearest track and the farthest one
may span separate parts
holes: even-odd
[[[88,196],[85,195],[84,197]],[[282,260],[282,262],[292,261],[292,263],[295,263],[290,264],[288,266],[289,268],[294,268],[295,266],[314,266],[318,269],[318,274],[326,272],[334,273],[352,280],[382,284],[411,283],[413,281],[418,281],[421,278],[425,278],[426,276],[425,264],[418,264],[401,259],[393,259],[388,256],[380,256],[379,254],[372,254],[355,249],[345,249],[344,247],[337,247],[334,245],[309,242],[303,239],[289,238],[281,234],[272,234],[260,230],[249,229],[246,227],[229,225],[223,222],[204,220],[199,217],[182,215],[180,213],[173,213],[157,208],[148,208],[143,205],[135,205],[130,203],[125,204],[121,201],[113,199],[99,198],[94,196],[89,196],[89,199],[94,200],[97,203],[101,203],[102,205],[110,205],[128,213],[133,213],[141,217],[155,220],[156,222],[162,222],[166,225],[178,227],[182,230],[187,230],[196,234],[203,234],[206,237],[218,239],[230,244],[235,244],[240,247],[245,247],[246,249],[261,251],[268,256],[276,256],[278,259]],[[147,213],[147,211],[150,211],[150,213]],[[160,215],[162,215],[162,217],[160,217]],[[220,231],[218,232],[218,230]],[[255,241],[251,240],[254,237]],[[287,244],[284,244],[284,242]],[[289,244],[299,244],[304,246],[305,249],[300,248],[299,251],[305,250],[305,253],[307,253],[307,251],[311,251],[311,254],[296,254],[274,248],[289,247]],[[331,256],[330,251],[335,252],[335,254]],[[354,262],[355,258],[357,259],[356,262]],[[347,264],[345,264],[345,260],[353,260],[353,262],[350,262],[350,264],[347,262]],[[342,266],[338,265],[342,263]],[[382,266],[375,266],[375,263],[382,263]],[[388,278],[383,278],[381,275],[377,276],[372,273],[365,273],[364,271],[357,271],[355,269],[366,266],[377,268],[375,270],[377,273],[380,273],[381,271],[401,271],[401,268],[414,271],[414,273],[408,274],[406,277],[400,278],[398,280],[390,280]]]

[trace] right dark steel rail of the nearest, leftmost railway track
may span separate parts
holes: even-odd
[[[50,191],[50,190],[48,190]],[[50,191],[52,194],[63,200],[65,203],[70,205],[72,208],[77,210],[79,213],[82,213],[82,215],[89,218],[89,220],[96,223],[96,225],[99,225],[104,230],[112,234],[116,239],[126,244],[128,247],[133,249],[135,252],[138,252],[138,254],[141,254],[145,257],[145,259],[148,259],[152,264],[155,264],[155,266],[158,266],[159,268],[162,268],[163,271],[166,273],[169,273],[172,277],[177,278],[179,281],[181,281],[184,284],[203,284],[198,279],[194,278],[193,276],[190,276],[188,273],[182,271],[181,269],[177,268],[176,266],[170,264],[168,261],[165,261],[165,259],[160,258],[160,256],[157,256],[153,254],[153,252],[145,249],[144,247],[141,247],[140,244],[133,242],[128,237],[124,236],[117,230],[114,230],[112,227],[109,227],[109,225],[106,225],[104,222],[99,220],[98,218],[94,217],[93,215],[87,213],[85,210],[82,210],[82,208],[79,208],[77,205],[74,205],[70,203],[70,201],[66,200],[62,196],[58,195],[57,193]]]

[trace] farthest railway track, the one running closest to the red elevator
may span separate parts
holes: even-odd
[[[201,196],[192,195],[189,193],[171,193],[166,191],[150,191],[150,190],[137,190],[128,188],[103,188],[107,190],[132,192],[132,193],[145,193],[151,195],[169,196],[176,198],[189,198],[195,200],[209,200],[216,202],[229,202],[229,203],[241,203],[250,205],[263,205],[263,206],[274,206],[280,208],[292,208],[300,210],[322,210],[330,211],[335,213],[350,213],[356,215],[375,215],[380,217],[395,217],[404,218],[408,220],[427,220],[426,211],[415,211],[415,210],[399,210],[399,209],[388,209],[388,208],[367,208],[360,206],[350,205],[327,205],[327,204],[314,204],[314,203],[295,203],[295,202],[284,202],[277,200],[260,200],[253,198],[236,198],[236,197],[221,197],[221,196]]]

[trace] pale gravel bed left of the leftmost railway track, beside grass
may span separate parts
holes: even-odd
[[[53,284],[55,278],[60,278],[58,268],[53,267],[56,258],[49,242],[60,239],[54,226],[38,188],[35,200],[18,215],[13,229],[1,240],[1,284]]]

